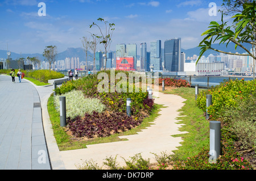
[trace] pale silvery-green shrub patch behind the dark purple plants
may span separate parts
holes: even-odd
[[[85,98],[82,91],[73,90],[63,96],[66,97],[67,117],[71,117],[71,119],[74,119],[76,116],[84,116],[85,113],[92,113],[93,111],[102,112],[105,110],[105,106],[100,100]],[[59,95],[56,95],[54,100],[59,111]]]

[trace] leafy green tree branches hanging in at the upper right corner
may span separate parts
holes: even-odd
[[[256,7],[255,1],[253,3],[244,3],[242,13],[234,15],[232,18],[233,25],[227,26],[227,22],[224,23],[223,21],[223,13],[221,18],[221,24],[217,22],[210,22],[208,28],[209,30],[205,31],[202,36],[206,35],[206,37],[200,42],[199,47],[201,47],[201,52],[197,62],[200,60],[201,56],[203,56],[204,52],[208,49],[215,50],[216,52],[225,53],[225,54],[233,54],[239,56],[250,56],[253,58],[253,79],[255,79],[255,61],[256,61],[256,52],[255,52],[255,45],[256,45]],[[228,44],[233,42],[235,44],[235,49],[237,46],[244,49],[247,54],[237,54],[237,53],[230,53],[224,52],[222,50],[218,50],[212,48],[212,44],[220,40],[221,43]],[[250,49],[246,49],[243,44],[250,44],[253,51],[250,52]],[[196,62],[196,64],[197,64]]]

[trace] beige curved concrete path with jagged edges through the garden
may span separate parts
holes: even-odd
[[[150,158],[151,163],[156,162],[155,156],[152,153],[159,154],[162,151],[172,154],[173,150],[177,150],[181,146],[181,137],[172,137],[174,134],[182,134],[187,132],[180,132],[178,129],[182,124],[179,122],[178,110],[183,107],[185,99],[177,95],[163,94],[159,92],[158,98],[155,98],[155,103],[163,104],[167,108],[162,108],[159,112],[160,116],[156,118],[147,129],[144,129],[138,134],[130,136],[120,136],[120,138],[127,138],[127,141],[110,142],[105,144],[87,145],[86,149],[61,151],[61,158],[63,159],[66,169],[77,169],[76,166],[82,166],[85,160],[97,162],[102,166],[106,157],[117,155],[117,162],[121,166],[125,166],[123,158],[129,160],[129,157],[137,153],[141,153],[145,159]],[[123,158],[122,158],[123,157]]]

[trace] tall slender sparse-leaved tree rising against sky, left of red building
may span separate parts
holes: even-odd
[[[105,71],[106,71],[106,61],[107,61],[107,52],[110,48],[110,44],[112,43],[112,35],[113,35],[113,31],[115,30],[115,28],[113,28],[113,26],[115,26],[114,23],[109,23],[108,21],[102,19],[102,18],[98,18],[97,19],[100,22],[104,22],[105,24],[105,32],[102,32],[100,26],[98,26],[98,24],[94,23],[90,25],[90,28],[92,28],[92,26],[97,26],[98,29],[100,30],[101,36],[97,36],[100,39],[100,44],[102,43],[104,45],[105,48]]]

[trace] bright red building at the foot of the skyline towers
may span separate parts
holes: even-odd
[[[135,70],[134,58],[133,57],[117,57],[116,70],[125,70],[125,71]]]

